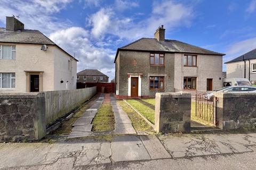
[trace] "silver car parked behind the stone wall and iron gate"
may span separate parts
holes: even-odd
[[[256,93],[256,87],[253,86],[229,86],[229,87],[223,87],[221,89],[215,90],[215,92],[255,92]],[[210,92],[209,94],[205,94],[205,99],[210,100],[213,96],[213,92]]]

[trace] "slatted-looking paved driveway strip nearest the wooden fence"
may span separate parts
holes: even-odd
[[[79,138],[92,135],[91,123],[103,102],[104,96],[104,94],[101,94],[95,103],[89,109],[87,109],[81,117],[77,119],[77,121],[73,124],[73,129],[68,135],[68,138]]]

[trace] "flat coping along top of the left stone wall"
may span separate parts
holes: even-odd
[[[29,99],[43,97],[43,92],[20,92],[20,93],[4,93],[0,94],[0,99]]]

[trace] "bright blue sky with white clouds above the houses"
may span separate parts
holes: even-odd
[[[109,80],[117,48],[154,38],[160,25],[165,39],[225,53],[223,63],[256,48],[256,0],[0,0],[0,11],[0,27],[19,16],[75,55],[77,72],[98,69]]]

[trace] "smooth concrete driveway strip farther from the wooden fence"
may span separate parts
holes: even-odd
[[[111,106],[115,115],[116,134],[137,134],[132,126],[132,122],[122,107],[117,103],[115,97],[111,97]]]

